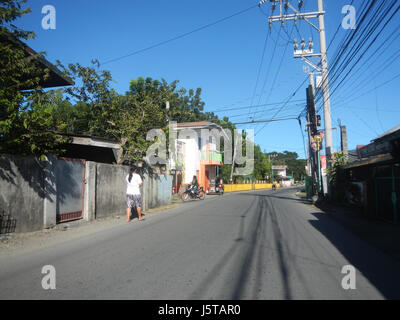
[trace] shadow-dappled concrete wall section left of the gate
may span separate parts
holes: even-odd
[[[15,219],[15,232],[43,228],[44,168],[33,157],[0,156],[0,215]]]

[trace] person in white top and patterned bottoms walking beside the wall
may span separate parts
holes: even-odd
[[[126,176],[126,220],[129,222],[131,219],[132,208],[135,207],[138,213],[139,221],[143,221],[142,218],[142,196],[140,194],[140,187],[143,184],[142,178],[137,174],[137,167],[133,166],[129,170],[129,174]]]

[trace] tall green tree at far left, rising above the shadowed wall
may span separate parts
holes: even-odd
[[[25,2],[0,2],[0,153],[43,159],[48,153],[61,152],[64,141],[51,132],[55,92],[44,92],[40,86],[49,76],[49,70],[38,63],[44,53],[26,55],[20,40],[35,35],[11,24],[30,12],[22,8]]]

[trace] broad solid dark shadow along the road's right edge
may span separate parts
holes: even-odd
[[[312,213],[318,220],[309,223],[321,232],[372,285],[387,299],[400,299],[400,264],[351,233],[340,233],[325,213]]]

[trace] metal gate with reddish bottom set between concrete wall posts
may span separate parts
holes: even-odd
[[[55,170],[57,223],[83,218],[85,160],[58,158]]]

